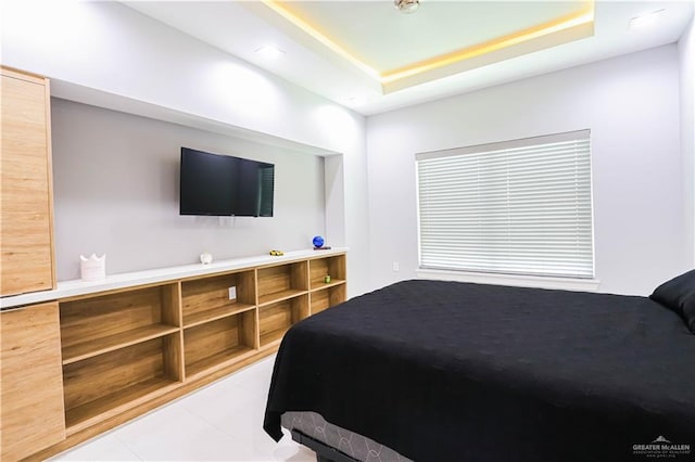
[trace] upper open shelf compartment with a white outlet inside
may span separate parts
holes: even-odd
[[[254,271],[184,281],[181,301],[184,328],[253,309],[256,305]]]

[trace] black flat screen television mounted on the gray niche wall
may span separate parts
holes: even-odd
[[[271,217],[275,165],[181,147],[180,215]]]

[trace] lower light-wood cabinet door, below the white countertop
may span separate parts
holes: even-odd
[[[58,303],[0,313],[0,460],[65,439]]]

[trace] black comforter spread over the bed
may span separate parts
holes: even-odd
[[[645,297],[405,281],[287,333],[276,439],[285,411],[416,461],[646,460],[657,438],[695,460],[695,335]]]

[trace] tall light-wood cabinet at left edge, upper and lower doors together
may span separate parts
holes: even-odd
[[[1,68],[0,295],[55,287],[48,79]],[[65,439],[58,303],[0,315],[0,460]]]

